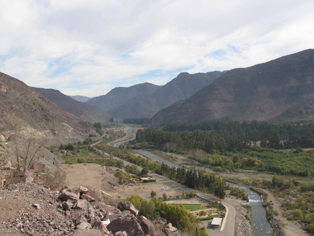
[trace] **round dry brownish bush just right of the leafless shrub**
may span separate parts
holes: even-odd
[[[60,168],[54,171],[47,170],[45,175],[41,175],[45,185],[52,190],[59,190],[65,185],[67,174]]]

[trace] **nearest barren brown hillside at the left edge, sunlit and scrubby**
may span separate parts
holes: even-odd
[[[22,81],[0,72],[0,139],[36,133],[48,138],[82,138],[92,123],[51,102]],[[12,137],[11,137],[12,138]]]

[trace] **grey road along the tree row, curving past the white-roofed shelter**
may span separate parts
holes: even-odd
[[[180,183],[177,183],[175,181],[172,181],[170,179],[167,179],[164,176],[158,175],[156,173],[149,173],[153,178],[156,178],[158,182],[163,183],[165,186],[169,187],[171,191],[177,191],[177,192],[185,192],[185,193],[196,193],[198,196],[207,199],[208,201],[215,201],[216,199],[211,197],[208,194],[204,194],[202,192],[199,192],[193,188],[189,188],[187,186],[184,186]],[[222,201],[222,204],[225,205],[228,208],[228,215],[226,217],[225,227],[223,230],[214,230],[211,228],[211,221],[203,221],[203,224],[206,228],[206,232],[210,236],[234,236],[235,235],[235,218],[236,218],[236,209],[228,204]]]

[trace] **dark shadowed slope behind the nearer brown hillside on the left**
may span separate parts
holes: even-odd
[[[73,98],[61,93],[59,90],[46,89],[46,88],[35,88],[38,93],[41,93],[51,102],[54,102],[61,106],[64,110],[70,112],[77,117],[83,118],[90,122],[106,122],[111,118],[111,115],[98,107],[89,105],[87,103],[78,102]]]

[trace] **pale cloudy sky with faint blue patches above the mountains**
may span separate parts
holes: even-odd
[[[0,0],[0,71],[95,97],[314,48],[312,0]]]

